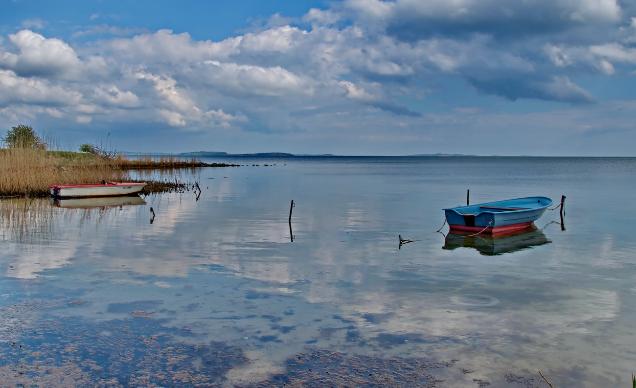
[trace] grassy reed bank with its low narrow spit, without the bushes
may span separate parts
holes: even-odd
[[[131,181],[128,170],[182,167],[221,167],[225,164],[206,164],[194,159],[175,157],[102,158],[88,153],[71,151],[43,151],[25,148],[0,149],[0,196],[48,196],[53,184]],[[146,192],[189,190],[178,182],[144,181]]]

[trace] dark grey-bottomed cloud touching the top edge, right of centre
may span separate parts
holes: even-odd
[[[381,21],[401,39],[485,33],[509,38],[618,22],[616,0],[345,0],[344,6]]]

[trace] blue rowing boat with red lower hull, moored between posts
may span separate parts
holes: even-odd
[[[551,204],[547,197],[525,197],[443,210],[451,232],[495,234],[529,226]]]

